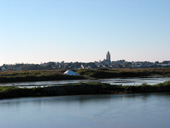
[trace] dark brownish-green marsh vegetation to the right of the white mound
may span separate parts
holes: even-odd
[[[147,77],[147,76],[170,76],[170,68],[151,69],[85,69],[77,73],[93,78],[115,78],[115,77]]]

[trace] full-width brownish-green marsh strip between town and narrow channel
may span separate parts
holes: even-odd
[[[125,77],[170,76],[170,68],[75,70],[81,76],[63,75],[64,71],[65,70],[5,71],[5,72],[0,72],[0,83],[72,80],[72,79],[85,79],[85,78],[97,79],[97,78],[116,78],[116,77],[125,78]]]

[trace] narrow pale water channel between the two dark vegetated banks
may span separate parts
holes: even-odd
[[[72,83],[88,83],[88,82],[101,82],[109,83],[111,85],[141,85],[142,83],[148,83],[150,85],[163,83],[170,81],[170,77],[161,78],[112,78],[112,79],[97,79],[97,80],[60,80],[60,81],[40,81],[40,82],[20,82],[20,83],[1,83],[0,86],[20,86],[20,87],[35,87],[35,86],[60,86],[63,84]]]

